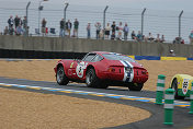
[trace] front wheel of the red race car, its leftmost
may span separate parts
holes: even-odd
[[[56,81],[59,85],[67,85],[69,82],[68,78],[65,74],[65,70],[63,67],[59,67],[57,69]]]

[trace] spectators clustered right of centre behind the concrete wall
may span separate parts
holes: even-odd
[[[116,25],[115,22],[110,25],[110,23],[106,24],[105,28],[101,28],[101,23],[96,22],[95,23],[95,38],[96,39],[120,39],[120,40],[127,40],[128,39],[128,33],[129,33],[129,27],[127,23],[123,25],[122,22]],[[90,23],[88,23],[87,26],[88,31],[88,38],[90,38]],[[154,37],[151,33],[148,34],[148,36],[145,36],[141,34],[140,31],[136,34],[135,31],[132,31],[130,33],[130,39],[132,40],[138,40],[138,42],[157,42],[157,43],[163,43],[164,40],[164,35],[157,34],[157,37]]]

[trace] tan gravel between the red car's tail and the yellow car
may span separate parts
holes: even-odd
[[[159,74],[166,75],[166,89],[169,87],[172,77],[175,74],[193,75],[193,61],[177,61],[177,60],[141,60],[141,63],[149,72],[149,79],[145,83],[144,90],[156,91],[157,79]]]

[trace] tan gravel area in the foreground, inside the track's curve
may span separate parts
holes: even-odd
[[[132,106],[0,87],[0,127],[4,129],[95,129],[150,117]]]

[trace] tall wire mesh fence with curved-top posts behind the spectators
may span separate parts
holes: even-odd
[[[29,5],[29,8],[27,8]],[[44,5],[43,10],[39,7]],[[66,8],[66,10],[65,10]],[[27,11],[27,12],[26,12]],[[13,17],[18,14],[23,19],[27,13],[27,25],[30,26],[30,34],[35,35],[35,28],[38,28],[39,21],[43,17],[47,21],[48,28],[55,28],[56,34],[59,35],[59,21],[70,20],[72,23],[75,19],[79,21],[79,37],[87,37],[87,24],[91,23],[91,37],[95,37],[94,24],[100,22],[102,27],[106,23],[112,24],[113,21],[118,25],[120,22],[127,23],[129,27],[128,38],[130,38],[132,31],[136,33],[141,31],[144,35],[151,33],[154,37],[157,34],[164,35],[166,40],[172,42],[175,37],[182,37],[189,43],[189,35],[193,30],[193,17],[191,12],[180,11],[164,11],[164,10],[150,10],[150,9],[126,9],[126,8],[112,8],[112,7],[90,7],[78,4],[63,4],[57,8],[55,5],[47,5],[46,2],[23,3],[23,8],[3,8],[0,7],[0,32],[3,32],[4,26],[8,26],[8,19],[10,15]]]

